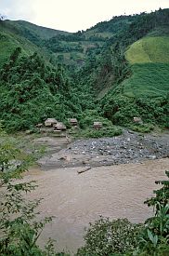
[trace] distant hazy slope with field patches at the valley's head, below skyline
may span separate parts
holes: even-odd
[[[109,21],[73,34],[58,34],[45,42],[45,47],[53,52],[57,60],[71,67],[81,68],[94,56],[98,59],[105,43],[123,31],[135,16],[114,17]]]

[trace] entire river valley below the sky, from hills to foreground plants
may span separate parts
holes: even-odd
[[[168,8],[76,33],[0,16],[0,254],[168,255],[168,28]]]

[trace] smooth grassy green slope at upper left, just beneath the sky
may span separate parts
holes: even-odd
[[[36,26],[22,20],[0,22],[0,68],[16,47],[22,48],[23,55],[30,55],[36,51],[48,60],[48,52],[44,48],[36,46],[32,39],[37,38],[41,42],[43,39],[48,39],[57,34],[67,33]]]

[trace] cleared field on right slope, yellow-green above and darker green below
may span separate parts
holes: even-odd
[[[127,51],[132,76],[123,82],[128,97],[166,96],[169,91],[169,36],[145,37]]]

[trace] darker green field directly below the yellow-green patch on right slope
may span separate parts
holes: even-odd
[[[169,63],[143,63],[132,67],[133,75],[123,82],[128,97],[166,96],[169,91]]]

